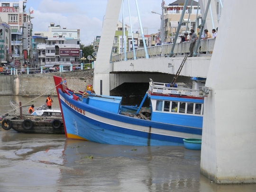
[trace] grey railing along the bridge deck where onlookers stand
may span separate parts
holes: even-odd
[[[189,53],[189,47],[190,47],[191,42],[183,42],[183,43],[176,43],[174,47],[174,55],[183,55],[185,53]],[[206,53],[206,54],[211,54],[214,48],[215,44],[215,39],[210,38],[206,40],[200,41],[200,46],[199,46],[199,54],[201,53]],[[151,46],[147,47],[147,54],[149,57],[160,57],[161,54],[164,55],[165,57],[169,56],[170,51],[172,50],[174,44],[165,44],[163,46]],[[137,59],[141,58],[146,58],[145,54],[145,49],[137,49],[135,50],[135,54]],[[134,53],[133,51],[129,51],[126,53],[126,58],[127,60],[133,60],[134,59]],[[119,61],[124,61],[124,54],[118,54],[118,55],[113,55],[112,56],[112,62],[119,62]]]

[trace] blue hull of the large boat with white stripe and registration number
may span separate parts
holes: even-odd
[[[202,128],[128,117],[58,93],[67,138],[131,146],[183,146],[183,138],[201,138]]]

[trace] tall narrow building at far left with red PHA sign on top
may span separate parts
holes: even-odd
[[[25,3],[27,0],[2,0],[0,2],[1,20],[7,23],[11,29],[11,38],[9,39],[11,47],[9,47],[9,58],[6,60],[18,67],[27,63],[31,54],[33,25],[30,11],[26,10]]]

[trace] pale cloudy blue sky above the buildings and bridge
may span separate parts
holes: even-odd
[[[165,4],[174,2],[167,1]],[[80,40],[85,46],[91,45],[96,36],[101,36],[102,21],[108,0],[27,0],[26,10],[32,11],[33,34],[35,31],[48,31],[50,23],[70,29],[80,29]],[[161,27],[162,0],[137,0],[142,27],[148,28],[147,34],[157,33]],[[136,1],[129,0],[133,31],[139,29]],[[130,25],[128,0],[124,0],[124,21]],[[122,21],[122,6],[119,14]],[[144,35],[146,33],[144,32]]]

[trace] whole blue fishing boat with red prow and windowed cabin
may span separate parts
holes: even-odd
[[[121,105],[122,97],[73,91],[58,76],[54,81],[67,138],[131,146],[183,146],[184,138],[201,139],[200,90],[150,79],[137,107]],[[150,105],[145,108],[146,99]]]

